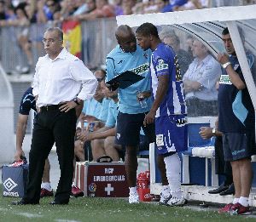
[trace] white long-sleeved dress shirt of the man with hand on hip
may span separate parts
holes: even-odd
[[[96,91],[97,80],[84,63],[66,48],[51,60],[49,55],[38,59],[32,83],[37,105],[57,105],[78,97],[89,100]]]

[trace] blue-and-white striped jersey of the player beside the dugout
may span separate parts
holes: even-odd
[[[169,76],[166,96],[161,101],[155,117],[186,114],[187,108],[184,100],[183,80],[177,63],[177,55],[171,47],[165,43],[158,44],[152,54],[150,71],[154,98],[158,87],[158,77],[163,75]]]

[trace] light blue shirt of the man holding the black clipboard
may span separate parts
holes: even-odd
[[[134,53],[125,53],[119,45],[108,54],[106,60],[107,78],[106,82],[124,71],[134,71],[137,75],[145,77],[143,80],[131,86],[119,88],[119,111],[128,114],[143,113],[150,110],[151,98],[146,99],[148,107],[142,108],[137,100],[137,91],[150,91],[150,50],[143,51],[137,46]]]

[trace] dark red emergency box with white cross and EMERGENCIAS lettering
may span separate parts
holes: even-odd
[[[75,183],[84,196],[129,196],[124,162],[77,162]]]

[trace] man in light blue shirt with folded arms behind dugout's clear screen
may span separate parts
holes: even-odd
[[[218,116],[215,84],[220,77],[221,67],[199,40],[194,40],[192,52],[195,60],[183,76],[188,116]]]

